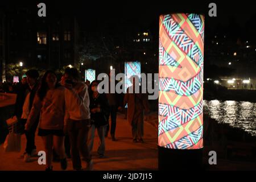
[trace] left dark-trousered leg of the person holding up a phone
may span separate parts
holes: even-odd
[[[68,121],[68,135],[69,142],[71,145],[71,159],[73,164],[73,169],[79,170],[82,168],[79,148],[77,146],[77,138],[79,130],[76,129],[77,121]]]

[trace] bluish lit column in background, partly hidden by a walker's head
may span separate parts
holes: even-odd
[[[140,62],[126,62],[125,63],[125,92],[129,86],[132,85],[130,77],[137,75],[141,80],[141,63]]]

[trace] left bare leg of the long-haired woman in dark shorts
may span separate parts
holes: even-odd
[[[42,137],[44,143],[44,150],[46,152],[46,168],[52,167],[52,147],[53,147],[53,137],[52,135],[47,135]]]

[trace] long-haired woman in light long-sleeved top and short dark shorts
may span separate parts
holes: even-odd
[[[42,83],[27,119],[26,130],[35,122],[40,114],[38,135],[42,137],[46,151],[46,170],[52,170],[52,148],[54,146],[60,155],[61,168],[67,168],[67,160],[64,152],[64,116],[65,116],[65,92],[64,87],[57,84],[54,72],[44,73]]]

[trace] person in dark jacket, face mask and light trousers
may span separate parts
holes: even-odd
[[[91,118],[91,130],[89,139],[89,151],[93,149],[93,140],[95,129],[97,129],[98,137],[100,138],[100,146],[98,147],[98,155],[100,158],[104,158],[105,155],[105,131],[108,125],[109,104],[105,94],[98,93],[98,82],[93,81],[90,84],[90,118]]]

